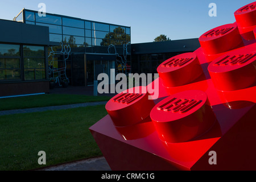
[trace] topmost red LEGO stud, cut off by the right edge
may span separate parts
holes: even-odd
[[[254,39],[253,30],[256,27],[256,2],[241,7],[235,11],[234,16],[242,37],[245,40]]]

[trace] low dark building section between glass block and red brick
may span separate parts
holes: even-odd
[[[131,44],[131,63],[134,73],[157,73],[163,61],[185,52],[193,52],[200,47],[198,39],[170,40]]]

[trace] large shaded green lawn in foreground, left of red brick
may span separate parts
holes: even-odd
[[[43,167],[100,156],[89,127],[106,115],[105,105],[0,117],[0,171]]]

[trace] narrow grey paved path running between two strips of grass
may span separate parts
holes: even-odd
[[[48,107],[37,107],[30,109],[15,109],[15,110],[3,110],[0,111],[0,115],[10,115],[10,114],[20,114],[20,113],[34,113],[42,112],[47,110],[60,110],[60,109],[72,109],[76,107],[86,107],[86,106],[95,106],[95,105],[105,105],[108,101],[102,102],[86,102],[81,104],[70,104],[70,105],[60,105],[60,106],[48,106]]]

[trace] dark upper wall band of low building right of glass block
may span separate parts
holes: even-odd
[[[132,54],[167,53],[167,52],[193,52],[200,47],[199,40],[183,39],[164,42],[150,42],[131,44]]]

